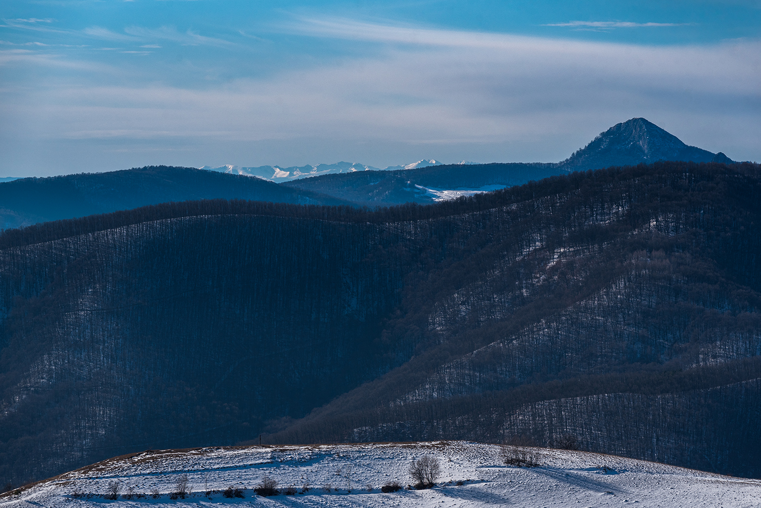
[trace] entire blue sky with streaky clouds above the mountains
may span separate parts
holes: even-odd
[[[3,0],[0,177],[560,161],[645,117],[761,161],[761,0]]]

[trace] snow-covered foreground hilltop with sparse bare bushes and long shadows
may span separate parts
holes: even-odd
[[[533,451],[536,468],[505,465],[500,446],[462,441],[147,451],[11,491],[0,506],[761,506],[757,480],[597,453]],[[441,464],[434,488],[380,491],[393,481],[411,483],[409,463],[423,455]],[[185,475],[190,493],[171,499]],[[296,493],[257,496],[253,488],[265,476],[281,492],[292,486]],[[117,481],[118,499],[106,499]],[[224,497],[228,487],[244,497]]]

